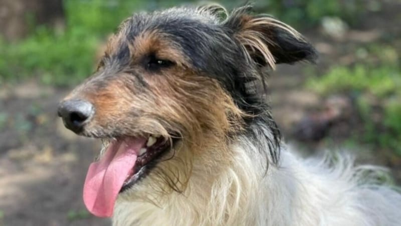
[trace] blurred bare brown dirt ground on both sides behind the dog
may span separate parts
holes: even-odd
[[[400,17],[399,11],[400,7],[389,15],[369,15],[366,25],[350,30],[342,40],[319,30],[306,31],[321,52],[316,67],[324,69],[333,61],[352,62],[354,46],[379,41],[383,33],[399,35],[395,22],[399,19],[391,20],[391,16]],[[296,143],[291,134],[294,123],[323,101],[304,88],[304,68],[280,66],[270,79],[273,114],[291,143]],[[83,205],[84,177],[100,145],[68,131],[57,117],[57,103],[67,92],[35,81],[0,87],[0,226],[109,225],[109,220],[88,214]],[[341,129],[341,125],[334,127],[330,134],[336,136]],[[328,147],[327,142],[296,145],[307,154]],[[401,164],[390,164],[380,150],[354,151],[359,162],[390,166],[395,177],[401,178]]]

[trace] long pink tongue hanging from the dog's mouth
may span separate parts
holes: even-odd
[[[84,184],[84,203],[91,213],[99,217],[113,214],[118,192],[145,141],[144,138],[114,141],[109,144],[105,155],[89,166]]]

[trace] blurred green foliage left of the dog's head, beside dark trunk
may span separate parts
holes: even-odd
[[[102,39],[144,1],[66,0],[66,28],[36,27],[26,39],[0,39],[0,83],[38,76],[46,84],[75,84],[93,71]]]

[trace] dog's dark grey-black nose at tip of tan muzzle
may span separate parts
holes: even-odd
[[[92,103],[81,99],[65,100],[60,103],[57,111],[64,125],[74,132],[81,132],[94,112]]]

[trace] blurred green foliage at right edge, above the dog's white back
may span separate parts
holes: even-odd
[[[401,155],[401,68],[391,46],[373,45],[371,56],[353,66],[333,66],[307,86],[321,94],[346,92],[355,97],[363,121],[362,140]],[[374,63],[374,61],[376,61]]]

